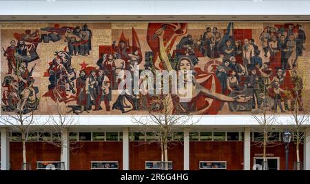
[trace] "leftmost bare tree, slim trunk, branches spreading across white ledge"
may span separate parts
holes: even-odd
[[[34,112],[32,111],[28,114],[24,114],[20,110],[14,110],[10,113],[2,112],[0,121],[3,125],[8,126],[10,130],[21,133],[21,142],[23,145],[23,165],[21,169],[30,169],[27,165],[26,142],[28,141],[28,135],[31,132],[32,126],[36,123]]]

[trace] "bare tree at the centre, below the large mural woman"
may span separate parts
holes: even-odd
[[[154,142],[161,147],[161,161],[165,163],[165,166],[162,165],[162,169],[168,170],[168,150],[172,143],[170,138],[174,130],[193,125],[200,121],[200,117],[195,120],[189,114],[174,114],[174,101],[170,94],[154,95],[147,111],[149,112],[147,115],[138,118],[132,116],[132,122],[140,125],[143,132],[149,132],[155,137]]]

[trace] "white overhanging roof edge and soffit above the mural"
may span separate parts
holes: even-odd
[[[0,0],[0,21],[308,21],[298,0]]]

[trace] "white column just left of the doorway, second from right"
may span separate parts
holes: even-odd
[[[243,170],[251,170],[251,129],[245,127],[243,142]]]

